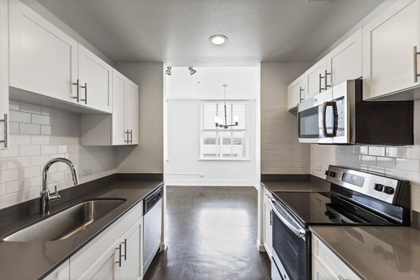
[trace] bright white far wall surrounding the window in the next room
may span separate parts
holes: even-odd
[[[259,95],[260,67],[195,67],[190,76],[187,67],[172,68],[166,77],[167,99],[167,185],[184,186],[255,186],[259,181]],[[248,129],[249,160],[199,160],[200,100],[250,100]],[[200,176],[202,174],[202,176]]]

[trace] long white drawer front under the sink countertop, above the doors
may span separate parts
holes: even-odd
[[[143,202],[139,202],[123,217],[89,242],[83,249],[70,258],[70,279],[81,279],[99,258],[120,239],[125,232],[143,216]]]

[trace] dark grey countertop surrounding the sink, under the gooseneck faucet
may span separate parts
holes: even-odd
[[[82,191],[82,195],[76,196],[73,190],[73,197],[67,198],[60,204],[52,202],[50,212],[54,214],[63,208],[69,208],[78,202],[93,198],[123,198],[126,200],[116,209],[92,223],[89,228],[68,239],[34,242],[0,241],[0,279],[42,279],[161,184],[162,181],[136,181],[132,179],[130,181],[116,181],[114,179],[113,181],[106,181],[104,185],[97,186],[88,193]],[[3,224],[0,227],[1,237],[13,229],[20,228],[28,223],[34,223],[34,221],[42,218],[40,214],[32,214],[4,224],[3,220],[6,218],[4,218],[4,214],[1,214],[2,211],[0,210],[0,223]]]

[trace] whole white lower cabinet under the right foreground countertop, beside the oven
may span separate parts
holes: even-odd
[[[312,280],[351,279],[361,280],[318,237],[312,235]]]

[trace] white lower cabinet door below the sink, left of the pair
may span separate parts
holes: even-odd
[[[90,280],[119,280],[121,279],[122,267],[122,248],[119,242],[113,244],[111,248],[80,279]]]

